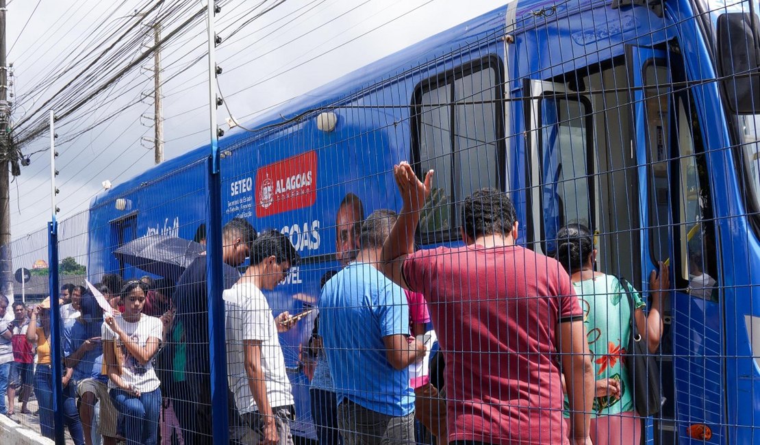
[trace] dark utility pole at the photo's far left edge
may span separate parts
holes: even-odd
[[[0,0],[0,293],[13,299],[11,257],[11,144],[8,137],[8,62],[5,60],[5,0]]]

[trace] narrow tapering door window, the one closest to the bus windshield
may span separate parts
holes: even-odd
[[[693,105],[693,104],[692,104]],[[715,299],[717,264],[707,162],[698,116],[678,101],[679,249],[676,273],[692,297]]]

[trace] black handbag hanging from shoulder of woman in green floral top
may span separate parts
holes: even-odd
[[[631,338],[625,350],[625,365],[628,368],[633,386],[633,405],[638,415],[647,417],[660,412],[663,404],[660,387],[660,366],[655,356],[649,352],[647,342],[638,332],[635,320],[635,307],[628,282],[618,278],[620,287],[628,297],[631,307]]]

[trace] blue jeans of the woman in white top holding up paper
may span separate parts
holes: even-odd
[[[113,406],[124,415],[127,445],[156,445],[158,417],[161,413],[161,390],[135,397],[124,390],[109,391]]]

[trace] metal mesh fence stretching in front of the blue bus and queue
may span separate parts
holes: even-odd
[[[100,195],[59,235],[81,434],[755,443],[757,6],[513,3],[223,137],[220,215],[207,147]]]

